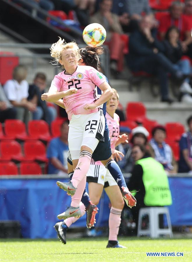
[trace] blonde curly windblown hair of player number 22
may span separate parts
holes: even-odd
[[[59,63],[59,60],[62,60],[62,52],[69,48],[75,50],[77,61],[81,59],[81,55],[77,43],[75,42],[66,43],[64,39],[61,39],[61,37],[59,37],[59,40],[56,43],[53,43],[50,48],[51,56],[54,58],[53,61],[56,65]]]

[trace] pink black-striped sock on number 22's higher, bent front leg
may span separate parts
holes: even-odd
[[[74,187],[77,188],[80,181],[84,177],[86,177],[87,172],[89,170],[90,163],[91,163],[91,157],[92,157],[92,154],[89,153],[88,151],[85,151],[85,150],[81,151],[79,155],[79,161],[78,161],[77,167],[75,168],[75,171],[73,173],[73,178],[71,179],[71,182]],[[84,188],[83,188],[83,191],[84,191]]]

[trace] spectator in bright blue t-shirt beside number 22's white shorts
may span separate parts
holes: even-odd
[[[67,171],[69,121],[61,125],[61,136],[53,138],[47,146],[48,174],[64,174]]]

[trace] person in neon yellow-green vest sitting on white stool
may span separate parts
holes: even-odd
[[[128,185],[131,191],[139,190],[136,193],[137,206],[131,210],[137,229],[140,208],[170,206],[172,197],[163,165],[150,157],[145,146],[133,146],[132,157],[135,165]]]

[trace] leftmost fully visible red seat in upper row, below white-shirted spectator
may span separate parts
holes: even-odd
[[[29,138],[25,124],[18,119],[7,119],[5,121],[5,134],[10,139],[26,140]]]

